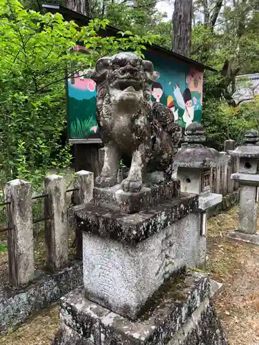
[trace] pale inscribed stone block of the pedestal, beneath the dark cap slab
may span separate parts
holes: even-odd
[[[83,234],[86,297],[135,319],[155,290],[184,266],[204,266],[206,237],[191,213],[134,246]]]

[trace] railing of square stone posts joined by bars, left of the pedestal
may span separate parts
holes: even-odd
[[[18,288],[35,279],[33,226],[45,221],[46,268],[55,273],[68,266],[68,210],[66,193],[73,192],[73,204],[86,204],[93,198],[93,172],[75,174],[74,188],[66,190],[65,178],[50,175],[43,195],[32,197],[30,182],[21,179],[6,184],[9,282]],[[44,217],[33,219],[32,202],[44,199]],[[76,244],[77,244],[76,238]]]

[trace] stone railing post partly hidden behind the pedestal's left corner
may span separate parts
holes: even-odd
[[[87,204],[93,199],[94,178],[93,172],[81,170],[75,174],[74,188],[78,188],[74,193],[74,204]],[[75,246],[77,248],[77,259],[83,256],[83,238],[81,229],[75,227]]]

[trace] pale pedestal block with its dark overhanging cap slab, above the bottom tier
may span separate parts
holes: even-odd
[[[140,213],[96,206],[75,208],[83,234],[85,295],[136,319],[165,279],[184,266],[201,266],[198,197],[181,195]]]

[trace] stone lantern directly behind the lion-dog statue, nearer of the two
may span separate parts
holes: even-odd
[[[186,128],[182,147],[173,162],[180,179],[181,193],[199,195],[200,234],[207,235],[207,210],[222,201],[222,194],[211,193],[211,168],[225,166],[230,157],[204,146],[206,137],[201,124],[193,122]]]

